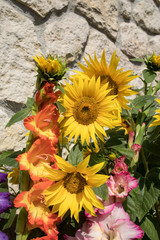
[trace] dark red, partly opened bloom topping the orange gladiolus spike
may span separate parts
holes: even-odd
[[[54,92],[53,83],[46,83],[35,95],[35,101],[39,110],[43,109],[47,105],[50,105],[57,101],[61,91]]]

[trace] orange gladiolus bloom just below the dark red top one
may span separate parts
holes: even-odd
[[[47,105],[39,111],[37,115],[33,115],[24,119],[26,129],[32,131],[34,136],[47,140],[49,139],[53,145],[57,144],[59,136],[59,127],[57,120],[59,112],[55,105]]]

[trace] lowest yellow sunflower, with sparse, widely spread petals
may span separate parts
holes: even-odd
[[[77,222],[82,207],[96,216],[93,206],[100,209],[104,207],[91,187],[99,187],[107,181],[107,175],[96,174],[104,163],[87,168],[90,159],[88,156],[75,167],[59,156],[55,158],[61,170],[45,166],[43,174],[43,177],[56,181],[43,191],[47,206],[53,205],[52,212],[59,212],[58,216],[61,218],[70,210],[71,217],[74,216]]]

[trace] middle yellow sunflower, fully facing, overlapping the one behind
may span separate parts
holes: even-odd
[[[89,81],[74,81],[73,85],[66,82],[63,106],[66,111],[61,127],[68,141],[81,137],[82,144],[86,140],[89,145],[90,137],[97,146],[96,135],[104,141],[106,136],[104,126],[113,128],[121,122],[119,107],[115,106],[115,95],[108,95],[111,89],[108,83],[100,86],[100,78],[93,76]],[[103,135],[102,135],[103,134]]]

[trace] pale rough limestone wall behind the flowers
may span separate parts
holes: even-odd
[[[109,62],[117,49],[119,67],[139,73],[143,66],[129,58],[160,54],[159,7],[159,0],[0,0],[0,151],[25,146],[22,123],[4,126],[33,96],[32,56],[66,57],[72,70],[95,50],[100,57],[105,48]]]

